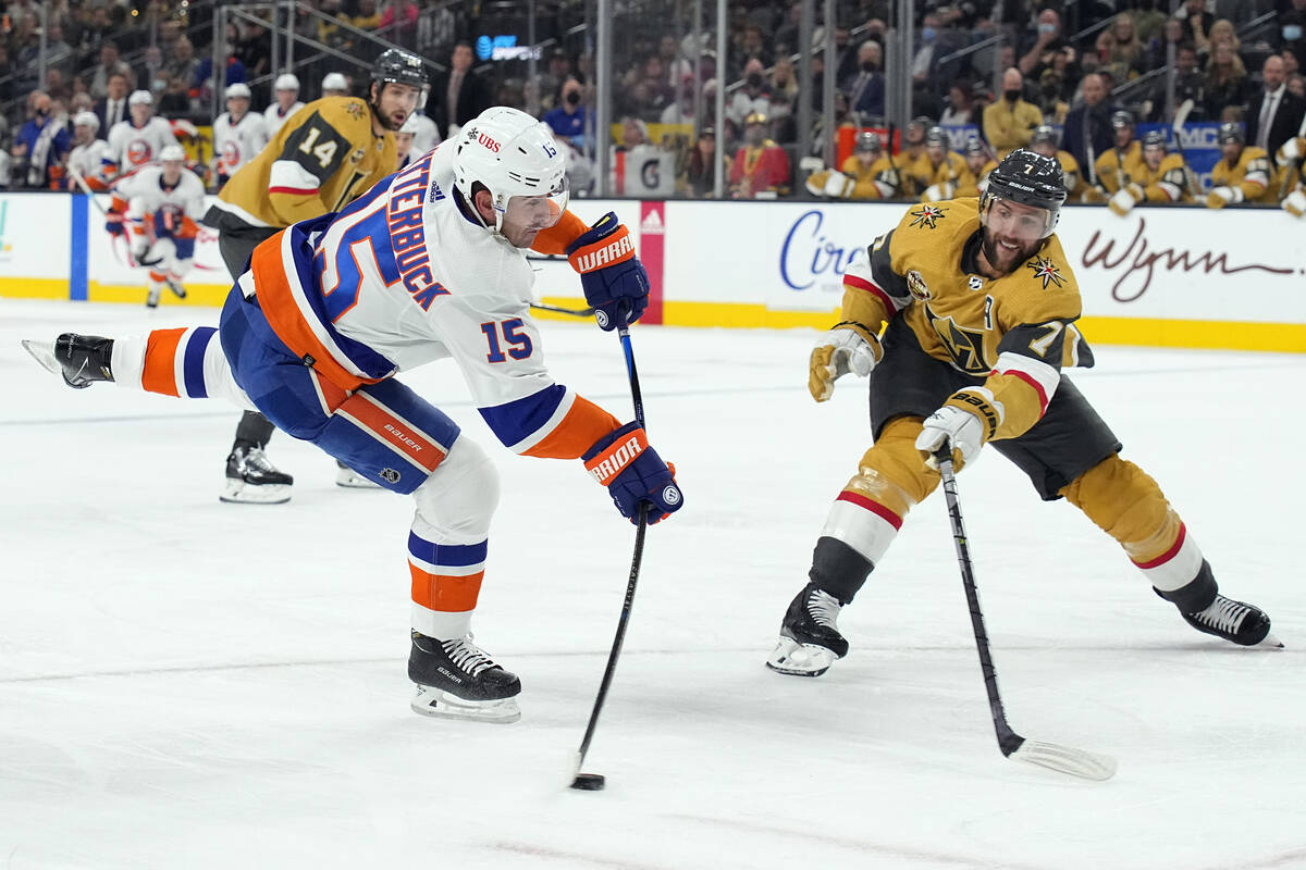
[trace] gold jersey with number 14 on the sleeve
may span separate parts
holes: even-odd
[[[340,211],[397,162],[394,134],[372,132],[364,100],[324,97],[291,115],[223,185],[213,207],[253,227],[289,227]]]

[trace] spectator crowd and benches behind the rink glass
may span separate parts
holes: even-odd
[[[1294,214],[1306,205],[1306,80],[1298,65],[1306,0],[1183,0],[1174,14],[1156,0],[946,3],[916,5],[909,82],[891,83],[889,4],[838,0],[828,59],[823,22],[814,22],[808,87],[797,60],[804,50],[798,1],[731,3],[724,64],[714,22],[692,27],[691,4],[614,3],[609,133],[596,130],[594,57],[576,26],[585,22],[577,0],[538,4],[541,51],[530,65],[520,56],[492,59],[482,44],[485,34],[511,27],[505,4],[302,1],[293,26],[303,46],[293,70],[272,68],[266,25],[235,16],[215,34],[204,0],[14,0],[0,38],[0,184],[111,185],[140,162],[133,132],[162,124],[189,146],[192,168],[212,190],[234,171],[230,149],[215,138],[239,130],[238,151],[259,147],[303,102],[349,93],[347,77],[387,40],[415,50],[436,70],[422,111],[431,132],[419,146],[451,136],[487,106],[526,108],[552,128],[580,196],[713,196],[720,149],[722,188],[734,198],[946,198],[978,193],[995,160],[1032,147],[1059,157],[1072,201],[1121,214],[1144,202],[1282,203]],[[345,69],[333,52],[359,67]],[[221,76],[214,57],[225,59]],[[836,81],[829,130],[820,104],[825,63]],[[891,86],[910,89],[914,120],[900,130],[885,123]],[[810,130],[798,127],[804,93]],[[227,111],[214,117],[219,103]],[[1209,187],[1183,162],[1175,136],[1136,127],[1198,121],[1220,124],[1221,160]],[[836,142],[846,157],[827,166]],[[610,158],[603,184],[598,149]]]

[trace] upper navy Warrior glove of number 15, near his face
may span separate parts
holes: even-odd
[[[633,323],[649,303],[649,275],[635,256],[635,243],[611,211],[567,245],[567,260],[580,273],[585,301],[602,330]]]

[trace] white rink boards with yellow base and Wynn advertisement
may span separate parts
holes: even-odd
[[[107,197],[99,197],[107,206]],[[825,327],[853,253],[896,226],[902,203],[575,200],[586,220],[616,213],[653,283],[648,323]],[[144,301],[89,197],[0,194],[0,296]],[[1277,209],[1067,207],[1058,227],[1098,344],[1306,352],[1306,227]],[[579,307],[562,260],[538,260],[537,295]],[[205,228],[184,304],[219,305],[229,284]],[[165,300],[176,304],[175,300]],[[542,314],[549,316],[549,314]]]

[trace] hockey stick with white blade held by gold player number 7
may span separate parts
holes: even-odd
[[[989,693],[989,710],[993,713],[993,728],[998,734],[998,749],[1007,758],[1027,764],[1091,780],[1111,779],[1115,773],[1115,759],[1109,755],[1025,740],[1007,724],[1007,711],[1002,706],[1002,695],[998,694],[998,672],[994,670],[993,653],[989,651],[989,633],[985,630],[983,613],[980,610],[980,590],[976,588],[970,547],[966,544],[966,530],[961,523],[961,503],[957,501],[957,479],[952,471],[951,446],[942,447],[935,459],[939,463],[939,475],[943,477],[943,496],[948,502],[952,540],[957,548],[957,565],[961,567],[961,584],[966,590],[966,604],[970,605],[970,627],[974,630],[976,648],[980,651],[980,669],[983,672],[983,686]]]

